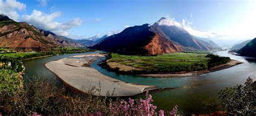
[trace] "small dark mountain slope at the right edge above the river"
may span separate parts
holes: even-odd
[[[239,49],[237,53],[243,56],[256,57],[256,38],[254,38],[244,47]]]

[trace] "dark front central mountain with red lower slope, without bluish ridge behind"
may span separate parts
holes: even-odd
[[[182,50],[159,27],[149,24],[128,27],[118,34],[106,37],[91,48],[129,55],[158,55]]]

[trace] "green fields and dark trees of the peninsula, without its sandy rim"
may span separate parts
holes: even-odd
[[[210,55],[206,52],[181,52],[158,56],[134,56],[110,53],[103,67],[130,73],[177,73],[205,70],[230,61],[229,57]]]

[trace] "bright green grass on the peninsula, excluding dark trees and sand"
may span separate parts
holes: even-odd
[[[112,54],[109,62],[118,62],[127,66],[140,69],[145,68],[162,68],[179,64],[193,64],[208,61],[210,58],[205,57],[207,54],[197,53],[173,53],[158,56],[132,56]]]

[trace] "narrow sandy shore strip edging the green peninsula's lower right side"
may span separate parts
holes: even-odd
[[[191,71],[191,72],[180,72],[175,74],[141,74],[138,76],[144,76],[144,77],[190,77],[190,76],[198,76],[203,75],[207,73],[211,73],[218,70],[223,70],[226,68],[230,68],[233,66],[236,66],[238,64],[241,64],[243,62],[237,61],[237,60],[231,60],[230,62],[226,64],[221,64],[219,66],[215,66],[213,68],[207,69],[207,70],[200,70],[200,71]]]

